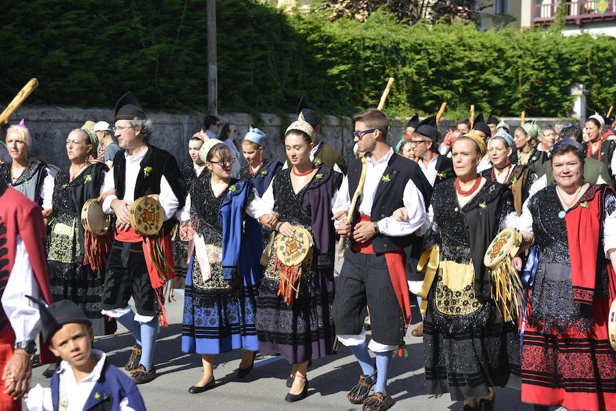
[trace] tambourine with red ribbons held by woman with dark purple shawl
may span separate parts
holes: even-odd
[[[294,235],[285,237],[279,235],[276,247],[276,262],[274,267],[279,270],[280,281],[277,295],[282,295],[287,305],[292,305],[299,295],[303,263],[312,255],[313,240],[306,228],[293,226]]]

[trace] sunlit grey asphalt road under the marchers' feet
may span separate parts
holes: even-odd
[[[284,358],[257,356],[255,369],[244,380],[238,380],[236,373],[240,350],[216,357],[215,388],[201,394],[189,394],[188,387],[201,377],[202,368],[200,356],[180,351],[182,300],[182,295],[177,293],[176,301],[167,306],[170,326],[161,328],[156,346],[158,376],[153,382],[139,386],[149,411],[361,410],[361,406],[355,406],[346,399],[346,393],[357,382],[361,369],[342,345],[336,355],[313,363],[308,372],[309,396],[296,403],[284,401],[287,393],[285,380],[290,371],[290,365]],[[409,332],[405,341],[409,357],[395,358],[389,371],[388,389],[396,400],[392,410],[459,410],[462,403],[451,401],[449,395],[426,395],[422,339],[410,336]],[[131,336],[121,326],[113,336],[100,337],[95,341],[96,347],[107,352],[110,362],[120,368],[127,361],[132,343]],[[49,386],[49,380],[41,376],[43,369],[34,369],[33,385],[40,383]],[[532,406],[519,401],[517,390],[497,388],[496,394],[496,410],[532,410]]]

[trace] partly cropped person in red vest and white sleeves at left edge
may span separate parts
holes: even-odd
[[[38,307],[25,295],[51,304],[40,207],[12,187],[0,188],[0,410],[21,410],[31,377]],[[45,356],[47,354],[47,356]],[[53,356],[41,347],[41,362]]]

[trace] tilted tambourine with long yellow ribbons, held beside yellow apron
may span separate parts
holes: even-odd
[[[490,293],[504,321],[515,321],[522,312],[522,281],[513,257],[522,245],[522,235],[513,228],[505,228],[492,240],[483,256],[483,264],[490,273]]]

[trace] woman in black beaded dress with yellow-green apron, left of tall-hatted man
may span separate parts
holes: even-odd
[[[66,137],[70,166],[55,176],[53,220],[47,237],[47,272],[53,301],[70,300],[79,305],[92,322],[94,334],[108,335],[116,331],[116,321],[107,321],[101,315],[107,257],[103,255],[105,240],[87,243],[88,235],[81,224],[84,203],[99,196],[109,170],[105,163],[88,161],[88,157],[97,155],[98,146],[99,139],[91,130],[74,129]],[[107,241],[111,243],[110,238]],[[43,375],[51,377],[54,369],[55,364],[51,364]]]

